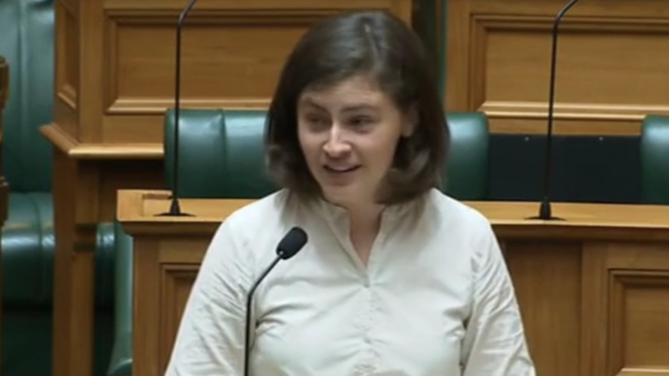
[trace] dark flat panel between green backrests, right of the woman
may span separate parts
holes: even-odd
[[[551,201],[640,200],[639,138],[557,136],[553,141]],[[491,136],[490,199],[541,199],[545,142],[544,136]]]

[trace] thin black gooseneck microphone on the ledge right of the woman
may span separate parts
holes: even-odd
[[[544,199],[541,206],[539,206],[539,216],[533,216],[530,219],[544,219],[544,220],[561,220],[552,216],[550,207],[550,177],[552,167],[552,138],[553,138],[553,108],[555,107],[555,66],[557,64],[557,28],[562,21],[562,17],[567,11],[578,3],[579,0],[571,0],[565,5],[560,12],[558,12],[553,21],[552,30],[552,51],[550,55],[550,84],[548,88],[548,132],[546,134],[546,158],[544,159]]]

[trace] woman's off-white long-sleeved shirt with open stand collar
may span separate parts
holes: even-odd
[[[168,376],[241,376],[246,294],[293,226],[304,249],[256,290],[254,376],[534,376],[486,218],[439,190],[382,214],[365,268],[345,212],[281,190],[226,219],[206,253]]]

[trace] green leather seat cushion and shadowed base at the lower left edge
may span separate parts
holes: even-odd
[[[51,373],[53,216],[49,193],[12,193],[2,231],[3,375]]]

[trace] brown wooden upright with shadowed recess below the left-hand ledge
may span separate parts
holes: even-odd
[[[115,218],[119,188],[162,188],[161,160],[76,160],[55,148],[55,375],[90,376],[97,223]]]

